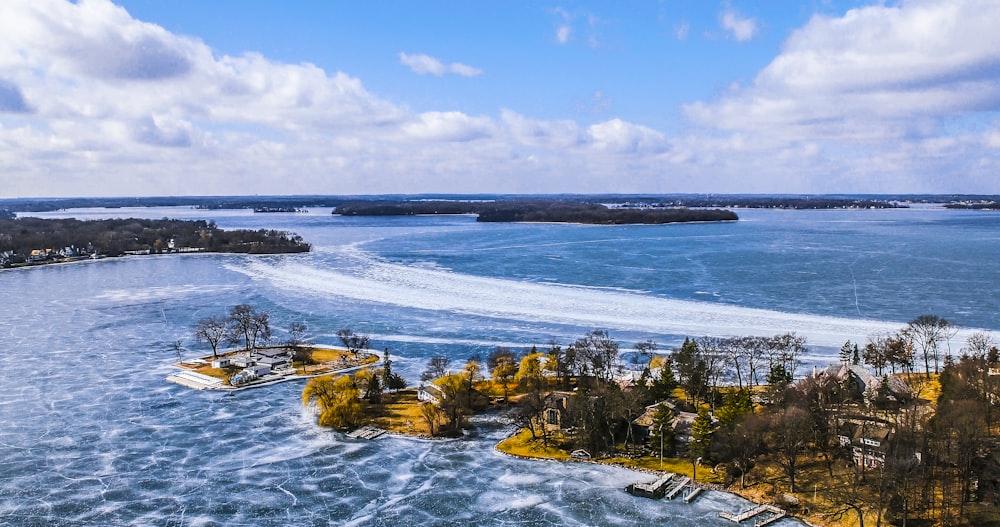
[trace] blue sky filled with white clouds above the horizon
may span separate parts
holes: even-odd
[[[1000,3],[0,6],[0,196],[1000,193]]]

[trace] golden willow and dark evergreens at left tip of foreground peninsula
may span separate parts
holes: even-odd
[[[386,390],[399,391],[405,387],[403,377],[392,371],[392,360],[386,349],[381,368],[310,379],[302,392],[302,401],[306,405],[316,405],[321,426],[347,430],[358,427],[367,416],[377,413]]]

